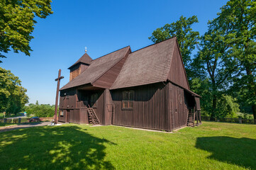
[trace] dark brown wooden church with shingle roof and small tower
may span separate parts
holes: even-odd
[[[201,123],[200,96],[189,89],[177,38],[95,60],[85,53],[69,69],[60,122],[166,131]]]

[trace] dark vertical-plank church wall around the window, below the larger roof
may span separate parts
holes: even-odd
[[[134,91],[134,107],[131,111],[121,108],[124,90]],[[163,83],[111,91],[114,105],[113,125],[169,130],[167,91],[168,87]]]

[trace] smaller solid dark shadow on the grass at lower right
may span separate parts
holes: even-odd
[[[196,148],[212,152],[209,159],[256,169],[256,140],[246,137],[198,137]]]

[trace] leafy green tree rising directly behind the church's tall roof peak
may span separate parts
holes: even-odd
[[[167,23],[161,28],[157,28],[153,31],[152,36],[149,38],[152,42],[161,42],[168,38],[177,37],[179,42],[179,48],[182,54],[184,66],[186,67],[189,80],[191,79],[190,62],[191,53],[196,47],[196,43],[199,41],[199,32],[193,31],[191,26],[194,23],[198,23],[196,16],[186,18],[181,16],[178,21],[174,23]]]

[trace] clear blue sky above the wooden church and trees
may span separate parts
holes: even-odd
[[[30,103],[54,104],[58,69],[60,86],[69,81],[69,66],[87,53],[101,57],[130,45],[133,51],[151,45],[148,37],[156,28],[180,16],[199,18],[193,26],[203,35],[207,22],[216,17],[226,0],[180,1],[67,1],[53,0],[51,16],[37,18],[31,56],[9,52],[0,67],[10,69],[28,89]]]

